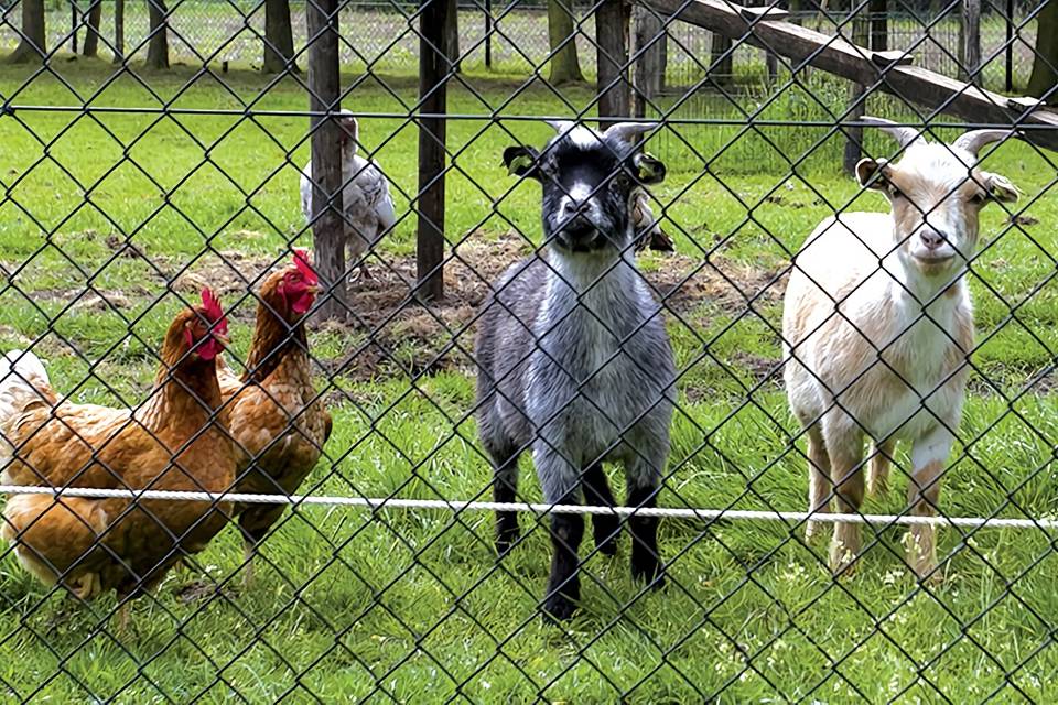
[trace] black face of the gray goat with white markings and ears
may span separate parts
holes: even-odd
[[[570,252],[631,246],[635,189],[665,177],[658,160],[637,153],[613,129],[560,129],[542,153],[526,147],[504,152],[507,167],[543,186],[543,234]]]

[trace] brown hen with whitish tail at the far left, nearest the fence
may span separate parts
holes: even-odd
[[[32,352],[0,368],[0,462],[10,485],[222,492],[236,458],[225,430],[216,357],[227,341],[219,302],[181,312],[165,334],[149,399],[134,411],[74,404],[52,389]],[[219,411],[218,411],[219,410]],[[182,556],[202,551],[228,503],[13,494],[3,538],[45,584],[80,599],[154,587]]]

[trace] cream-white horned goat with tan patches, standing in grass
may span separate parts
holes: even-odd
[[[881,191],[892,213],[824,220],[795,258],[782,336],[790,406],[808,434],[809,511],[856,512],[864,495],[864,435],[873,442],[867,485],[885,485],[897,440],[911,443],[908,505],[930,516],[962,415],[973,312],[964,281],[978,245],[978,214],[1017,189],[976,167],[982,147],[1011,134],[975,130],[950,145],[910,128],[864,118],[896,138],[898,163],[864,159],[860,184]],[[820,522],[809,521],[811,538]],[[913,527],[908,562],[937,567],[932,527]],[[831,568],[860,551],[860,528],[835,523]],[[939,573],[937,574],[939,576]]]

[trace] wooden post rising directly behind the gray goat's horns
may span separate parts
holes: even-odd
[[[602,0],[595,10],[595,44],[598,66],[598,117],[630,115],[628,82],[628,25],[631,8],[624,0]],[[606,126],[608,121],[601,120]]]

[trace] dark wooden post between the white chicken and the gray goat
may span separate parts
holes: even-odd
[[[423,0],[419,15],[419,232],[415,297],[444,295],[444,162],[447,78],[449,0]]]

